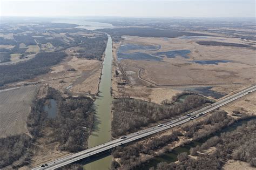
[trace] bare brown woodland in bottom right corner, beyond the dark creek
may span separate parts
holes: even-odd
[[[212,137],[205,144],[191,149],[191,155],[197,159],[186,157],[177,164],[161,162],[157,170],[163,169],[221,169],[227,160],[237,159],[256,167],[256,120],[248,121],[235,131],[221,133],[220,137]],[[215,151],[202,154],[204,149],[215,147]],[[154,169],[154,168],[151,168]]]

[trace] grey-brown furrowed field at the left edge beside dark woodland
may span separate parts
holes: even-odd
[[[0,91],[0,138],[27,132],[26,117],[37,86]]]

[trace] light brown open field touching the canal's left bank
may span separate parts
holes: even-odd
[[[73,53],[69,52],[69,49],[66,52],[69,56],[58,65],[52,66],[49,73],[30,80],[9,84],[9,87],[22,86],[26,83],[40,83],[53,87],[63,93],[69,91],[77,95],[90,91],[92,94],[96,94],[98,92],[102,62],[99,60],[77,58],[73,56]],[[75,69],[75,71],[68,71],[69,69]],[[67,87],[69,88],[67,89]]]

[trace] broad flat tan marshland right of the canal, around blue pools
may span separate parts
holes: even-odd
[[[122,60],[122,63],[142,69],[141,77],[156,83],[157,85],[191,85],[191,84],[233,84],[255,83],[255,50],[241,47],[205,46],[196,43],[202,39],[180,39],[180,38],[143,38],[127,36],[122,42],[161,45],[159,51],[190,50],[189,59],[183,57],[164,58],[164,62],[148,60]],[[242,40],[226,37],[207,37],[203,40],[214,40],[219,42],[242,43]],[[140,50],[133,50],[138,52]],[[143,51],[145,52],[145,51]],[[156,51],[146,53],[154,53]],[[232,60],[233,63],[196,64],[192,60]],[[137,69],[137,70],[138,70]],[[126,71],[134,69],[125,68]],[[131,77],[132,81],[134,77]],[[136,81],[134,85],[140,84]],[[140,84],[144,85],[144,84]]]

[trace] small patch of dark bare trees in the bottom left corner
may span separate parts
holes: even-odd
[[[30,137],[26,134],[0,139],[0,168],[4,168],[19,160],[28,149],[30,140]],[[24,158],[22,165],[28,163],[29,158]]]

